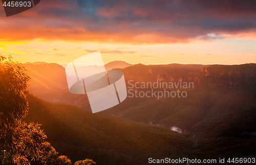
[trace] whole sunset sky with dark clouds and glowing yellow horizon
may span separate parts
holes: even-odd
[[[14,61],[96,51],[104,63],[256,63],[256,1],[41,0],[10,17],[0,6],[0,54]]]

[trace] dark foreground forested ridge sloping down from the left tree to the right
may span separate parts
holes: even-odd
[[[255,138],[198,138],[121,117],[92,114],[71,105],[27,97],[26,122],[42,124],[52,146],[74,163],[86,158],[97,164],[148,164],[148,158],[219,159],[256,156]],[[191,136],[191,137],[190,137]]]

